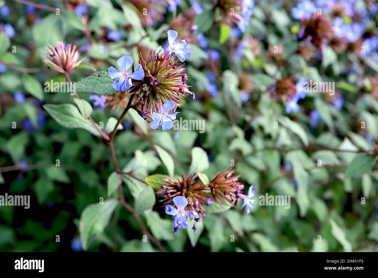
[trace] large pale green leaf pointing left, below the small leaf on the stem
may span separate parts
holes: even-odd
[[[73,104],[45,104],[43,107],[60,125],[68,128],[82,128],[100,136],[90,120],[84,119]]]

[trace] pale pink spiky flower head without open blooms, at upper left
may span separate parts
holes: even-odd
[[[80,52],[71,43],[65,45],[64,42],[57,42],[56,47],[50,45],[47,51],[46,56],[42,57],[43,63],[60,73],[69,73],[85,59],[79,60]]]

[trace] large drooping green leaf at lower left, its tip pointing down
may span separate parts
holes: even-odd
[[[118,205],[115,199],[108,199],[103,204],[88,205],[80,217],[80,237],[83,249],[87,250],[91,242],[99,236],[109,224],[110,217]]]

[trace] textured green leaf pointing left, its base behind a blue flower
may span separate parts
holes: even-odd
[[[95,93],[101,96],[111,95],[117,92],[112,87],[113,79],[106,71],[98,71],[90,76],[75,82],[69,89],[68,92],[89,92]]]

